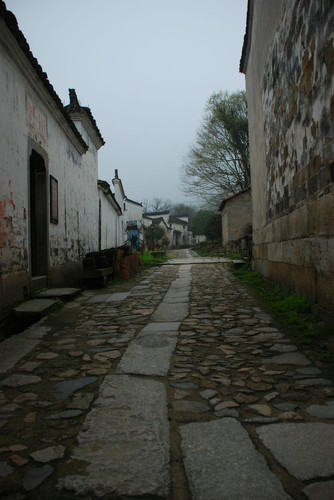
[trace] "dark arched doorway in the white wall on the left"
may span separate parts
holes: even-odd
[[[30,155],[30,262],[31,275],[47,275],[47,190],[46,168],[42,156]]]

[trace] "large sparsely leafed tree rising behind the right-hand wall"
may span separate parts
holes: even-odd
[[[250,184],[248,117],[244,91],[214,93],[196,142],[182,166],[183,191],[217,207]]]

